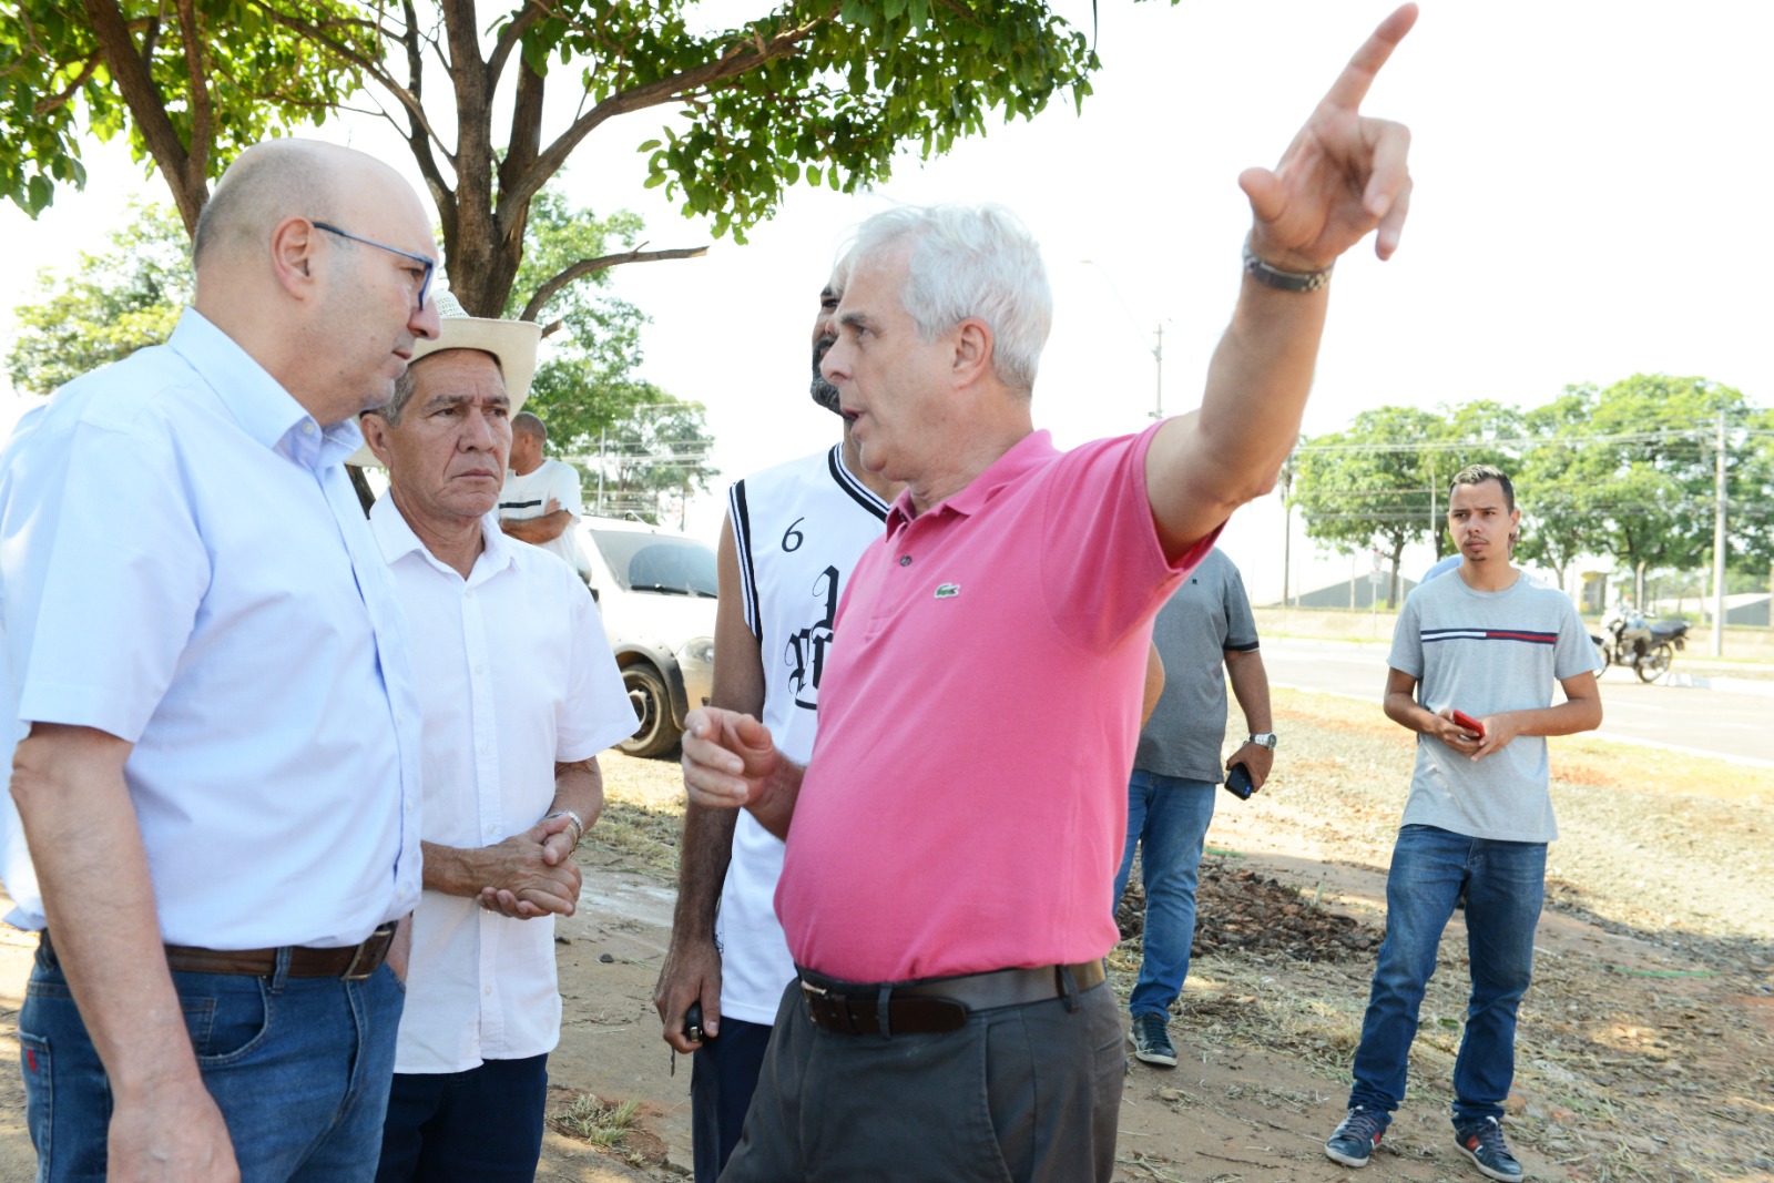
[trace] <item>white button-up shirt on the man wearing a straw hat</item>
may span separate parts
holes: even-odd
[[[534,827],[555,761],[596,756],[635,711],[591,592],[491,514],[465,580],[424,548],[392,497],[371,530],[412,624],[424,715],[424,839],[477,848]],[[552,1052],[561,1038],[553,917],[514,921],[424,892],[394,1069],[447,1073]]]

